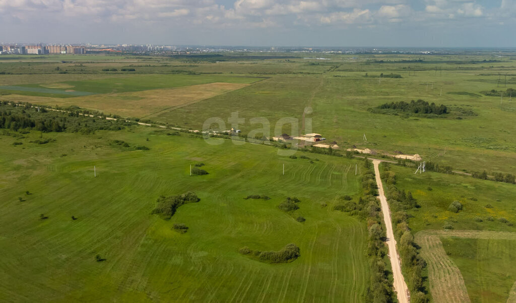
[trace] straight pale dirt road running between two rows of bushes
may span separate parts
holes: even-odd
[[[383,221],[385,222],[387,233],[386,242],[389,247],[389,259],[391,260],[392,273],[394,276],[394,291],[397,294],[399,303],[408,303],[410,301],[409,290],[407,288],[407,283],[405,283],[405,279],[401,274],[401,263],[399,261],[398,251],[396,251],[396,240],[394,239],[394,233],[392,231],[391,210],[389,209],[389,204],[387,204],[387,199],[385,198],[382,181],[380,179],[380,170],[378,169],[380,162],[380,160],[373,160],[373,165],[375,166],[376,184],[378,184]]]

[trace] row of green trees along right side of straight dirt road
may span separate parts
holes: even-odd
[[[396,188],[396,175],[390,171],[390,165],[385,162],[382,165],[383,172],[381,173],[381,178],[388,186],[386,198],[393,212],[394,236],[398,241],[397,246],[401,257],[401,266],[405,272],[411,294],[410,301],[414,303],[427,302],[428,298],[425,295],[426,291],[422,277],[426,262],[417,251],[414,236],[408,225],[409,216],[406,212],[406,210],[418,207],[418,205],[410,191],[405,193],[404,190],[400,191]]]

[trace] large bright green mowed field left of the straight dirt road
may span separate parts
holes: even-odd
[[[353,161],[307,154],[310,163],[275,148],[165,133],[49,133],[43,138],[56,141],[45,145],[29,142],[39,133],[0,136],[0,300],[364,301],[366,224],[333,210],[339,195],[360,194]],[[150,150],[124,150],[115,139]],[[198,162],[209,174],[190,177]],[[189,190],[199,203],[170,221],[151,215],[159,195]],[[249,194],[271,200],[244,200]],[[288,196],[301,200],[292,214],[277,208]],[[288,243],[301,249],[291,263],[238,253]]]

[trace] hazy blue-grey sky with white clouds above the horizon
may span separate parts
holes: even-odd
[[[516,0],[0,0],[0,42],[516,47]]]

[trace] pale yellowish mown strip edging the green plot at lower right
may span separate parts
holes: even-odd
[[[436,302],[471,302],[464,278],[444,251],[441,237],[465,239],[516,240],[516,233],[494,230],[422,230],[414,241],[421,247],[421,256],[428,264],[430,292]],[[507,302],[516,299],[516,282]]]

